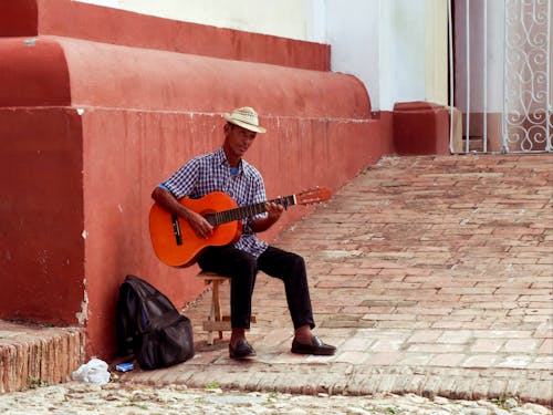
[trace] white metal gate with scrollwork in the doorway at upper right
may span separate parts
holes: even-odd
[[[452,152],[553,152],[551,1],[448,0]]]

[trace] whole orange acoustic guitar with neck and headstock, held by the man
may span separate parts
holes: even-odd
[[[313,187],[296,195],[268,200],[288,208],[293,205],[312,205],[327,200],[331,191],[326,187]],[[242,221],[250,216],[265,211],[265,204],[239,207],[222,191],[212,191],[199,199],[188,197],[178,200],[188,209],[204,216],[213,227],[208,239],[198,237],[187,220],[171,215],[155,203],[149,211],[149,234],[157,258],[171,267],[189,267],[208,247],[223,246],[240,238]]]

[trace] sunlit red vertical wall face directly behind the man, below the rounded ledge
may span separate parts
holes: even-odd
[[[382,137],[389,137],[390,122],[386,125],[385,121],[335,123],[264,117],[262,124],[270,133],[257,138],[247,158],[265,177],[268,197],[313,185],[337,189],[362,168],[389,153]],[[91,315],[87,339],[108,339],[105,333],[113,332],[115,293],[126,273],[152,281],[177,307],[205,289],[201,281],[195,279],[196,266],[169,268],[155,257],[147,227],[149,194],[181,162],[220,146],[222,126],[219,115],[160,116],[101,110],[84,113],[84,199],[87,200],[84,228],[88,234],[85,273]],[[129,148],[133,151],[128,152]],[[262,238],[271,240],[312,210],[313,207],[289,209]],[[112,344],[88,341],[87,350],[94,354],[108,352],[97,347]]]

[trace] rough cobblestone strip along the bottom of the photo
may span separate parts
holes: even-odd
[[[217,385],[205,390],[186,386],[155,387],[125,385],[105,386],[70,382],[27,392],[0,395],[0,414],[420,414],[420,415],[546,415],[551,409],[514,398],[493,401],[453,401],[414,394],[404,396],[377,394],[316,396],[281,393],[243,393],[222,391]]]

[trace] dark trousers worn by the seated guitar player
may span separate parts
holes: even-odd
[[[275,247],[269,247],[259,258],[236,249],[210,247],[198,258],[205,271],[231,277],[230,320],[232,328],[250,328],[251,297],[258,271],[284,282],[288,308],[294,329],[309,324],[315,326],[307,286],[305,262],[302,257]]]

